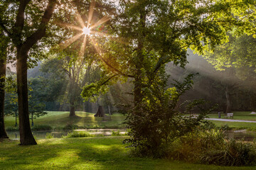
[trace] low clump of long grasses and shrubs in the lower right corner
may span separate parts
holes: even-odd
[[[248,166],[256,163],[255,147],[255,143],[225,141],[222,130],[200,130],[174,142],[168,157],[204,164]]]

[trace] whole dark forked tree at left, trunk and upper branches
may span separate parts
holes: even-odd
[[[18,118],[21,145],[36,145],[28,117],[28,55],[35,52],[33,47],[46,35],[57,0],[14,1],[9,9],[16,9],[15,19],[0,18],[0,26],[16,47],[16,73],[18,89]],[[36,15],[35,15],[36,13]],[[38,20],[41,22],[38,24]]]

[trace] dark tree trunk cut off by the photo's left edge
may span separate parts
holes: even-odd
[[[4,57],[6,59],[6,57]],[[4,127],[4,83],[6,76],[6,60],[0,58],[0,139],[8,138]]]

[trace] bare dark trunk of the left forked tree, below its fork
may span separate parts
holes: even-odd
[[[18,89],[18,120],[21,145],[36,145],[28,115],[28,84],[27,84],[28,51],[17,49],[17,89]]]

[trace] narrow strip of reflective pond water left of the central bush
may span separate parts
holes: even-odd
[[[63,136],[68,135],[68,132],[72,131],[85,131],[90,132],[90,134],[93,135],[105,135],[110,136],[112,135],[112,131],[117,132],[118,129],[88,129],[88,130],[59,130],[59,131],[53,131],[53,130],[43,130],[43,131],[32,131],[34,137],[36,139],[46,139],[46,133],[50,133],[55,138],[60,138]],[[19,132],[18,131],[6,131],[7,135],[10,137],[11,140],[19,140]],[[124,134],[125,130],[119,130],[120,134]]]

